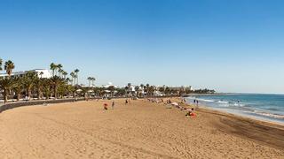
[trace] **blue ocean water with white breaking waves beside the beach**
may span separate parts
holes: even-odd
[[[284,95],[226,94],[196,95],[187,97],[187,102],[198,100],[200,105],[215,110],[255,117],[284,125]]]

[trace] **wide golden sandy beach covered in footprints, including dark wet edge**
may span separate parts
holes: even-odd
[[[284,126],[144,100],[66,102],[0,114],[0,158],[284,158]]]

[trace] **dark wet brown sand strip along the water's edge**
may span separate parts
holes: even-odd
[[[274,148],[284,148],[284,140],[275,140],[284,137],[284,125],[206,107],[201,107],[197,111],[220,117],[220,123],[217,126],[226,133],[234,133],[241,138],[260,141]]]

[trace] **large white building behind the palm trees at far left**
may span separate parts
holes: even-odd
[[[36,72],[37,77],[39,78],[51,78],[51,72],[46,69],[35,69],[35,70],[30,70],[30,71],[22,71],[22,72],[12,72],[11,76],[23,76],[27,72]],[[7,73],[0,73],[0,77],[7,77]]]

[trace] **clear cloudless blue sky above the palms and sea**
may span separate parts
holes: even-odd
[[[0,57],[97,84],[284,94],[282,0],[1,0]]]

